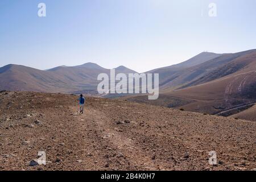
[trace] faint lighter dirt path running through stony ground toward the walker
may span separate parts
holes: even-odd
[[[104,146],[98,148],[98,153],[105,154],[104,167],[109,166],[112,169],[139,169],[140,167],[145,170],[157,168],[150,158],[144,158],[141,155],[143,151],[129,137],[123,137],[120,134],[122,130],[112,127],[113,121],[105,113],[89,107],[78,118],[82,123],[86,123],[86,126],[82,125],[81,129],[92,131],[89,137],[94,139],[97,146]]]

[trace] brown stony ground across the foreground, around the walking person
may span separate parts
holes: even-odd
[[[0,170],[254,170],[256,122],[128,101],[0,93]],[[38,152],[46,165],[36,165]],[[217,165],[208,163],[217,152]]]

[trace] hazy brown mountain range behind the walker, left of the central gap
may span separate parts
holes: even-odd
[[[125,67],[119,67],[116,72],[122,71],[135,73]],[[100,73],[109,74],[110,70],[94,63],[47,71],[10,64],[0,68],[0,90],[96,94]]]

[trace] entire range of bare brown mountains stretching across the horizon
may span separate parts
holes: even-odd
[[[116,73],[136,73],[118,67]],[[189,111],[229,116],[256,102],[256,49],[238,53],[203,52],[183,63],[147,73],[159,73],[160,96],[108,94],[154,105],[181,107]],[[23,90],[54,93],[97,94],[97,76],[110,73],[94,63],[76,67],[56,67],[48,71],[6,65],[0,68],[0,90]]]

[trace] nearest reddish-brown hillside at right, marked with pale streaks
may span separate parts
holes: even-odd
[[[256,51],[229,61],[201,81],[205,83],[164,93],[195,101],[185,109],[212,114],[256,102]]]

